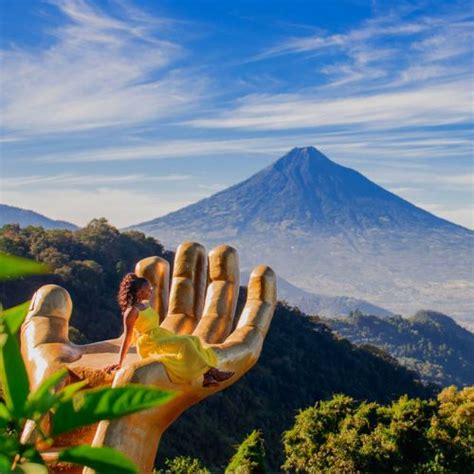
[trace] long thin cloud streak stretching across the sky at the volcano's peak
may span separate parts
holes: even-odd
[[[249,134],[251,135],[251,134]],[[259,136],[241,136],[235,139],[182,139],[153,140],[133,146],[88,147],[81,151],[61,151],[39,154],[36,163],[100,163],[140,162],[142,160],[163,160],[199,156],[239,157],[243,155],[267,156],[276,159],[295,146],[313,145],[319,147],[336,161],[346,164],[378,167],[380,165],[424,166],[433,159],[469,156],[472,142],[464,130],[437,131],[436,136],[428,131],[394,130],[383,134],[377,128],[354,130],[352,127],[328,131],[307,131],[280,134],[265,133]],[[225,161],[223,162],[223,167]]]

